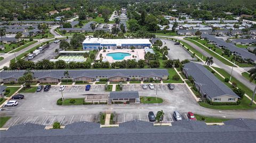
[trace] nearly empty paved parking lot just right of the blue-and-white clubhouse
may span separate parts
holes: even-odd
[[[172,40],[161,40],[163,41],[163,47],[167,46],[168,48],[170,48],[170,50],[168,50],[167,57],[169,57],[171,60],[193,60],[188,51],[186,51],[181,45],[174,45],[174,41]]]

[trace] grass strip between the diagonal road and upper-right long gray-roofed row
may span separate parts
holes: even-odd
[[[191,43],[194,43],[195,45],[197,45],[198,47],[202,48],[205,52],[209,53],[210,55],[212,55],[214,58],[217,58],[218,60],[220,60],[222,63],[232,66],[233,64],[228,62],[227,60],[225,60],[222,56],[219,56],[217,54],[215,54],[214,52],[212,52],[209,48],[206,48],[208,45],[206,40],[201,40],[201,39],[197,39],[196,41],[198,41],[199,43],[205,45],[206,47],[202,46],[201,44],[197,43],[194,40],[188,39],[188,38],[184,38],[188,41],[190,41]]]

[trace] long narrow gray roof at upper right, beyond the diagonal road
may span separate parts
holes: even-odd
[[[242,56],[246,59],[250,58],[251,60],[256,61],[256,56],[254,54],[252,54],[248,51],[244,51],[241,48],[236,47],[234,44],[226,43],[223,40],[220,40],[220,39],[218,39],[218,38],[216,38],[212,35],[208,35],[208,34],[205,34],[205,33],[202,33],[201,37],[202,38],[207,38],[208,40],[213,41],[218,46],[224,46],[227,49],[229,49],[229,51],[236,52],[237,55],[239,55],[239,56]]]

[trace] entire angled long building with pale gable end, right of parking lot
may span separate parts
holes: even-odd
[[[193,78],[195,87],[203,98],[212,102],[237,102],[240,98],[202,64],[186,63],[182,72],[187,78],[189,76]]]

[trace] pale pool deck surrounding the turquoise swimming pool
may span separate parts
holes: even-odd
[[[132,60],[132,59],[137,59],[137,60],[144,60],[144,55],[145,51],[144,49],[134,49],[134,52],[132,52],[131,49],[106,49],[106,52],[103,52],[101,50],[99,54],[96,57],[96,60],[100,60],[100,54],[102,54],[103,60],[107,60],[109,63],[114,63],[116,61],[123,61],[123,60],[114,60],[111,56],[107,56],[109,53],[129,53],[131,56],[125,56],[123,60]],[[132,57],[134,55],[134,58]],[[135,58],[137,56],[137,58]]]

